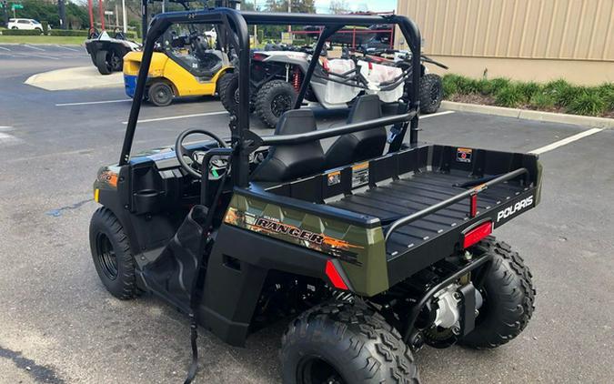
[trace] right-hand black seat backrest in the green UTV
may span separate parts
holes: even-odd
[[[382,107],[377,95],[360,96],[347,116],[347,123],[359,123],[381,116]],[[340,136],[327,150],[325,167],[341,167],[381,156],[386,147],[386,138],[385,126]]]

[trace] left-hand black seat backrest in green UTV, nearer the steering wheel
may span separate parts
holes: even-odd
[[[316,118],[310,109],[291,109],[281,116],[276,135],[304,134],[315,131]],[[324,151],[319,140],[293,146],[274,146],[254,170],[254,181],[282,182],[306,177],[322,170]]]

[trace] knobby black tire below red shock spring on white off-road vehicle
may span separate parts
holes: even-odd
[[[267,126],[275,128],[279,118],[294,107],[297,91],[284,80],[273,80],[258,91],[256,114]]]

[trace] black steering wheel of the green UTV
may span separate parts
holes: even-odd
[[[202,161],[205,157],[206,151],[198,149],[187,149],[186,147],[184,147],[183,143],[186,140],[186,137],[192,135],[209,136],[217,142],[217,145],[219,145],[219,147],[227,148],[228,146],[226,145],[226,142],[224,140],[219,138],[219,136],[216,136],[215,134],[204,129],[186,129],[181,134],[179,134],[179,136],[177,136],[177,139],[175,141],[175,154],[177,160],[179,161],[179,165],[184,168],[184,170],[191,176],[200,178],[203,177],[203,174],[201,173],[200,169],[202,168]],[[191,164],[187,163],[186,157],[192,160],[190,162]],[[220,176],[216,175],[215,168],[212,167],[226,167],[226,159],[219,157],[218,160],[214,160],[214,158],[209,161],[209,172],[213,174],[214,177],[212,178],[215,179],[219,178]]]

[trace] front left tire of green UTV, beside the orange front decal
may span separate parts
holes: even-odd
[[[136,296],[135,258],[117,217],[106,207],[94,212],[89,225],[89,245],[98,277],[116,298]]]

